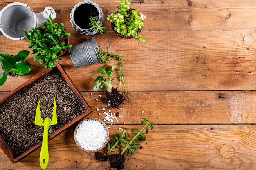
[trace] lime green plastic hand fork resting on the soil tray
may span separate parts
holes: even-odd
[[[40,152],[40,166],[44,170],[48,163],[49,163],[49,151],[48,151],[48,132],[49,126],[57,124],[57,112],[56,112],[56,101],[55,97],[53,97],[53,113],[52,113],[52,120],[49,117],[46,117],[44,121],[42,121],[41,113],[40,113],[40,100],[38,101],[37,108],[36,108],[36,117],[35,117],[35,125],[44,126],[43,132],[43,142],[41,146]]]

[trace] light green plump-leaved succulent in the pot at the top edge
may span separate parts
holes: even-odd
[[[120,4],[115,13],[107,16],[107,20],[112,23],[113,31],[117,35],[123,35],[124,38],[135,38],[139,42],[146,44],[146,40],[142,40],[142,36],[138,35],[144,26],[143,20],[145,15],[139,12],[139,10],[131,9],[129,0],[119,0]]]

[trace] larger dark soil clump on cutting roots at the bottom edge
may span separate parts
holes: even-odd
[[[117,168],[117,170],[124,169],[125,156],[118,154],[111,154],[108,156],[108,161],[111,168]]]

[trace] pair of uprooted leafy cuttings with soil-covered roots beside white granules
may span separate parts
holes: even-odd
[[[135,155],[135,149],[139,149],[139,140],[146,141],[146,137],[142,132],[146,129],[146,133],[150,129],[153,129],[153,123],[146,118],[142,118],[141,124],[145,124],[144,127],[138,131],[137,129],[132,129],[132,138],[129,137],[127,132],[128,128],[121,127],[123,132],[115,134],[114,138],[111,139],[107,144],[106,153],[95,152],[94,159],[97,161],[108,161],[110,162],[110,167],[117,168],[117,170],[124,169],[125,155],[124,153],[129,153]],[[120,151],[119,153],[110,154],[111,152]],[[108,156],[108,154],[110,154]]]

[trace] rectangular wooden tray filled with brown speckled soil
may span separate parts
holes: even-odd
[[[55,64],[0,99],[0,148],[11,163],[42,144],[44,127],[34,124],[40,98],[42,119],[51,119],[56,99],[57,124],[49,127],[49,141],[92,112],[62,66]]]

